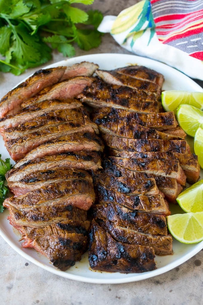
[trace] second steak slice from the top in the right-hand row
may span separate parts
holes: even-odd
[[[116,73],[114,71],[96,70],[96,74],[106,83],[119,86],[127,86],[138,90],[153,92],[160,95],[159,85],[150,81],[136,79],[134,77]]]

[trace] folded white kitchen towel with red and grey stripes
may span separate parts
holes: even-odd
[[[98,30],[128,51],[203,80],[203,0],[142,0],[105,16]]]

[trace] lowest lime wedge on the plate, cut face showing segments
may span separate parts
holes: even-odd
[[[175,239],[184,244],[203,240],[203,212],[166,216],[168,229]]]

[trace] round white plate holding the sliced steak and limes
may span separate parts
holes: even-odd
[[[165,77],[165,82],[163,85],[164,90],[188,90],[188,91],[203,91],[203,89],[192,81],[186,75],[180,73],[179,71],[154,60],[134,56],[127,54],[93,54],[86,56],[79,56],[72,59],[67,59],[58,63],[55,63],[48,67],[55,66],[71,66],[74,63],[80,63],[82,61],[90,61],[99,64],[101,69],[115,69],[118,67],[127,66],[129,64],[139,64],[152,68]],[[8,152],[4,148],[4,143],[2,137],[0,138],[0,145],[3,147],[1,149],[2,157],[9,157]],[[201,171],[201,178],[203,178],[203,172]],[[178,206],[171,206],[173,213],[180,213]],[[87,253],[82,257],[80,262],[77,262],[75,266],[68,269],[68,271],[60,271],[53,267],[49,260],[37,253],[34,249],[22,248],[21,243],[18,242],[20,238],[19,233],[17,233],[7,220],[8,211],[5,210],[4,213],[0,215],[0,235],[5,239],[5,241],[20,255],[22,255],[27,260],[36,264],[37,266],[44,268],[47,271],[50,271],[54,274],[60,275],[65,278],[89,282],[89,283],[104,283],[104,284],[113,284],[113,283],[127,283],[133,281],[140,281],[146,278],[150,278],[159,274],[162,274],[166,271],[169,271],[180,264],[184,263],[186,260],[193,257],[203,248],[203,242],[194,245],[185,245],[173,241],[173,255],[168,256],[157,256],[156,264],[157,269],[145,273],[134,273],[134,274],[122,274],[122,273],[108,273],[108,272],[98,272],[93,271],[89,267]]]

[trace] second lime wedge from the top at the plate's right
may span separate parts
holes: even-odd
[[[197,107],[182,104],[177,109],[177,120],[187,135],[194,137],[198,128],[203,128],[203,111]]]

